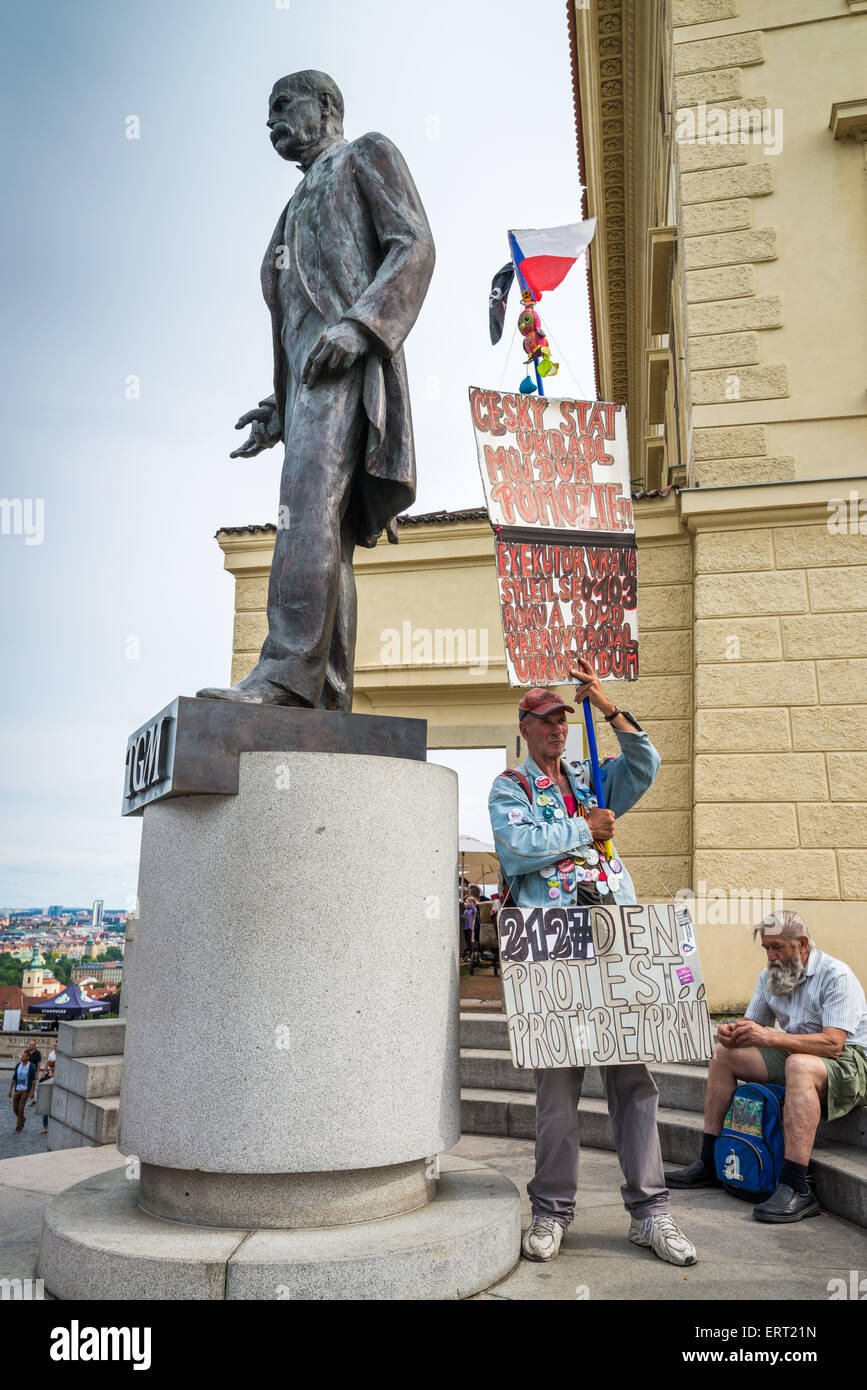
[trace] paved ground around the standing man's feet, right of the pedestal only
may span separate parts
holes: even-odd
[[[450,1152],[511,1179],[521,1193],[522,1225],[528,1225],[532,1140],[467,1134]],[[714,1188],[674,1194],[674,1218],[699,1255],[697,1264],[678,1269],[627,1240],[629,1218],[620,1198],[621,1182],[614,1154],[582,1150],[575,1220],[557,1259],[550,1265],[521,1259],[502,1283],[477,1298],[827,1301],[829,1279],[848,1282],[849,1270],[864,1269],[867,1240],[860,1226],[838,1216],[763,1226],[746,1202]]]

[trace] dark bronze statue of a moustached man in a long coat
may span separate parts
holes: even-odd
[[[343,139],[343,97],[324,72],[271,92],[271,143],[304,171],[261,268],[274,395],[238,421],[232,457],[286,446],[268,637],[250,674],[200,696],[352,709],[356,545],[374,546],[415,498],[403,342],[434,272],[434,240],[400,152]]]

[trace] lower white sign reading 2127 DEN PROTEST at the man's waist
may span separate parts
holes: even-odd
[[[502,908],[497,931],[514,1066],[713,1058],[688,908]]]

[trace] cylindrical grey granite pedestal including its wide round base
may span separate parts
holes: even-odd
[[[110,1184],[129,1250],[94,1236],[106,1180],[79,1184],[46,1216],[49,1291],[75,1297],[82,1222],[88,1297],[93,1266],[114,1298],[442,1298],[503,1277],[514,1187],[461,1165],[438,1184],[460,1137],[456,847],[454,774],[408,758],[242,752],[238,795],[146,806],[118,1140],[140,1179]],[[200,1291],[143,1293],[142,1262],[176,1276],[185,1238]]]

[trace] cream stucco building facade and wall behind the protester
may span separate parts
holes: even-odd
[[[570,0],[568,32],[597,391],[629,417],[628,706],[663,758],[618,845],[639,895],[699,894],[711,1008],[749,998],[768,902],[867,981],[867,0]],[[218,541],[238,680],[274,530]],[[354,708],[515,760],[485,513],[402,518],[356,575]]]

